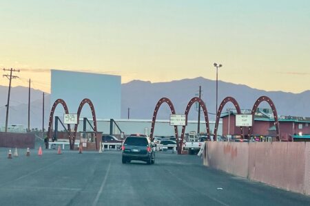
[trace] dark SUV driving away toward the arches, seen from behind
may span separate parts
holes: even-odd
[[[128,136],[122,146],[122,163],[125,164],[130,163],[132,160],[140,160],[146,161],[149,165],[154,164],[154,146],[156,145],[148,137]]]

